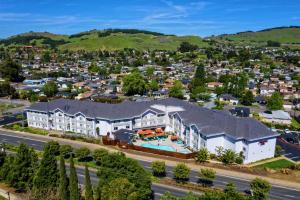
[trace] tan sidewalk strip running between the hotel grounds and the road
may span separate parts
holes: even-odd
[[[189,166],[192,170],[195,170],[195,171],[199,171],[199,169],[205,168],[205,166],[198,165],[191,160],[181,160],[181,159],[176,159],[176,158],[171,158],[171,157],[166,157],[166,156],[159,156],[159,155],[152,155],[152,154],[145,155],[144,153],[143,153],[143,155],[141,155],[140,152],[133,152],[131,150],[129,151],[129,150],[118,149],[117,147],[114,147],[114,146],[105,146],[105,145],[91,144],[91,143],[63,139],[63,138],[35,135],[35,134],[31,134],[31,133],[23,133],[23,132],[6,130],[3,128],[0,128],[0,131],[2,131],[3,134],[19,136],[22,138],[37,140],[37,141],[41,141],[41,142],[55,140],[55,141],[59,142],[60,144],[69,144],[75,148],[88,147],[92,151],[95,149],[99,149],[99,148],[107,149],[111,152],[122,151],[129,158],[133,158],[133,159],[140,160],[140,161],[146,161],[146,162],[160,160],[160,161],[164,161],[166,163],[166,165],[168,165],[168,166],[175,166],[179,162],[182,162],[182,163],[185,163],[187,166]],[[219,168],[214,168],[214,170],[217,172],[218,175],[230,177],[230,178],[237,179],[237,180],[251,181],[252,179],[254,179],[256,177],[259,177],[259,175],[253,175],[253,174],[219,169]],[[281,179],[276,179],[276,178],[270,178],[270,177],[266,177],[266,176],[262,176],[262,178],[266,179],[273,185],[276,185],[279,187],[289,188],[289,189],[294,188],[296,190],[300,190],[300,184],[297,182],[291,182],[291,181],[286,181],[286,180],[281,180]]]

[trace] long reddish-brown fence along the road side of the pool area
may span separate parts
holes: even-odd
[[[185,154],[185,153],[179,153],[179,152],[151,149],[151,148],[136,146],[136,145],[133,145],[133,144],[123,143],[123,142],[120,142],[118,140],[110,140],[107,137],[103,137],[102,142],[103,142],[104,145],[119,146],[120,148],[123,148],[123,149],[131,149],[131,150],[135,150],[135,151],[142,151],[142,152],[145,152],[145,153],[152,153],[152,154],[158,154],[158,155],[163,155],[163,156],[170,156],[170,157],[175,157],[175,158],[180,158],[180,159],[192,159],[196,156],[196,153],[186,153]]]

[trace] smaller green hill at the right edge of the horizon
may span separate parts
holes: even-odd
[[[267,41],[277,41],[282,44],[300,44],[300,27],[277,27],[265,29],[257,32],[241,32],[237,34],[224,34],[217,36],[221,40],[233,42],[256,42],[266,43]]]

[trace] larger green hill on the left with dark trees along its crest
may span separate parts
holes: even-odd
[[[74,35],[57,35],[48,32],[29,32],[1,40],[2,45],[47,45],[65,50],[176,50],[183,41],[206,46],[197,36],[175,36],[135,29],[92,30]]]

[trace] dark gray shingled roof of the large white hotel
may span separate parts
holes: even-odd
[[[59,108],[70,115],[80,112],[90,118],[109,120],[129,119],[140,116],[149,109],[157,113],[164,113],[161,110],[151,107],[152,105],[183,108],[181,111],[173,111],[169,114],[173,115],[177,113],[185,125],[196,125],[200,129],[200,132],[207,137],[215,134],[227,134],[235,139],[256,140],[277,136],[277,134],[255,119],[237,118],[229,114],[229,112],[209,110],[175,98],[143,102],[124,101],[120,104],[58,99],[51,102],[33,104],[27,110],[51,112]]]

